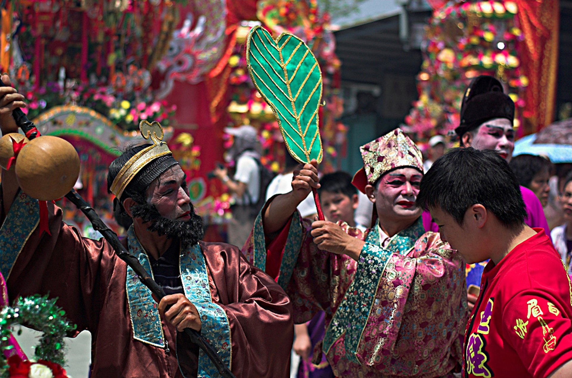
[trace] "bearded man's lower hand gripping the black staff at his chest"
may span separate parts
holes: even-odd
[[[170,307],[165,311],[165,309]],[[192,328],[201,331],[201,317],[197,308],[182,294],[166,295],[159,302],[159,313],[165,320],[177,327],[177,331]]]

